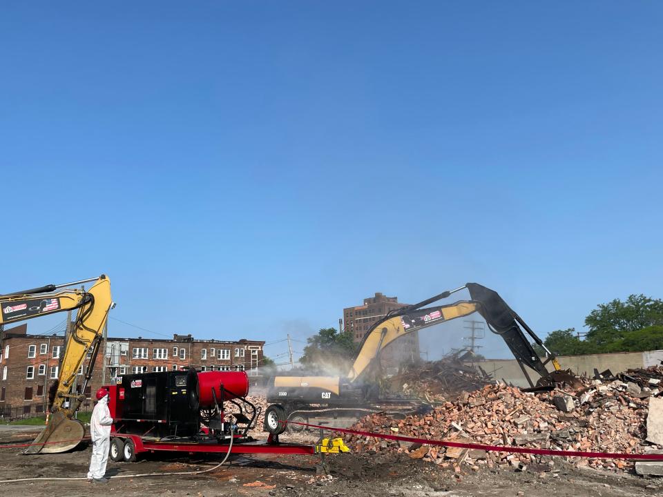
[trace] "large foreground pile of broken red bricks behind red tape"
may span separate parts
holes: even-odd
[[[456,401],[445,402],[423,415],[393,420],[385,414],[374,414],[359,420],[353,429],[484,445],[639,454],[657,448],[645,441],[646,397],[659,394],[658,389],[620,380],[585,380],[584,388],[577,391],[543,393],[492,384],[472,393],[463,392]],[[479,469],[479,465],[510,465],[539,472],[550,471],[554,464],[547,456],[421,446],[364,436],[352,436],[347,443],[358,451],[404,452],[457,471],[461,463],[473,469]],[[567,460],[577,466],[615,471],[633,466],[625,460]]]

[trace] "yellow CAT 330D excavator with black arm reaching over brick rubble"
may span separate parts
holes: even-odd
[[[464,289],[469,291],[470,300],[426,307]],[[486,320],[490,331],[503,338],[530,387],[535,387],[535,383],[528,370],[539,375],[537,387],[545,388],[555,382],[573,381],[572,376],[561,371],[555,355],[546,348],[544,342],[496,291],[477,283],[467,283],[418,304],[390,311],[378,320],[364,336],[354,364],[345,378],[275,376],[267,391],[267,402],[270,405],[265,411],[265,431],[278,435],[285,430],[288,420],[305,422],[309,417],[318,416],[363,416],[365,413],[393,408],[398,404],[397,400],[380,396],[380,352],[404,335],[473,313],[479,313]],[[545,351],[544,360],[539,358],[530,340]],[[552,373],[546,368],[548,363],[554,369]]]

